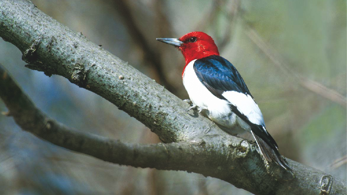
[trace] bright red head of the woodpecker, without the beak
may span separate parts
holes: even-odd
[[[186,65],[195,59],[218,55],[217,45],[211,36],[203,32],[190,32],[178,39],[183,42],[178,49],[182,52]]]

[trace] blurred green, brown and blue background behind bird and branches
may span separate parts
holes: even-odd
[[[155,38],[208,33],[245,79],[280,152],[346,180],[345,0],[32,2],[181,99],[188,99],[183,56]],[[159,142],[102,97],[61,76],[25,68],[21,56],[0,39],[0,63],[49,116],[124,142]],[[7,111],[1,100],[0,111]],[[0,184],[0,194],[250,194],[195,173],[118,166],[70,152],[22,131],[4,115]]]

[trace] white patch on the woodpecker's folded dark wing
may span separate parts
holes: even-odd
[[[263,125],[263,115],[258,105],[253,100],[252,96],[236,91],[226,91],[222,93],[232,105],[237,107],[237,110],[245,115],[250,122],[256,125]]]

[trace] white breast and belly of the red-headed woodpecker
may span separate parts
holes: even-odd
[[[231,134],[251,130],[229,107],[229,102],[213,95],[199,80],[193,69],[195,60],[188,63],[183,74],[183,85],[191,101],[203,109],[203,113]]]

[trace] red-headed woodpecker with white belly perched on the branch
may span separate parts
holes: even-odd
[[[222,130],[236,135],[250,132],[263,158],[291,170],[278,145],[265,128],[262,112],[234,65],[219,55],[217,45],[204,32],[190,32],[180,38],[157,38],[174,45],[185,58],[183,85],[197,108]]]

